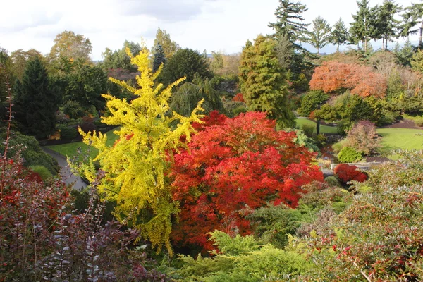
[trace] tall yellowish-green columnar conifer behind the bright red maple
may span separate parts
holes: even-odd
[[[295,125],[286,75],[278,63],[273,39],[259,35],[254,45],[247,42],[241,54],[240,85],[250,110],[266,111],[281,128]]]

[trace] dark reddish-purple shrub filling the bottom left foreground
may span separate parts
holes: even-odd
[[[130,281],[134,276],[147,281],[157,274],[145,269],[145,253],[130,250],[136,233],[121,231],[116,222],[100,223],[104,206],[95,188],[87,211],[74,214],[71,187],[57,179],[43,183],[18,156],[1,158],[1,281]]]

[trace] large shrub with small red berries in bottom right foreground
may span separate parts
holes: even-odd
[[[296,281],[423,281],[423,152],[404,157],[354,185],[366,192],[321,232],[295,240],[314,262]]]

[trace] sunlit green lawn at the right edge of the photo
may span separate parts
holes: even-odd
[[[377,133],[382,136],[382,152],[388,153],[393,149],[423,149],[423,130],[378,128]],[[388,157],[390,159],[398,159],[396,155]]]

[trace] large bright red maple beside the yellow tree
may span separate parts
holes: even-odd
[[[302,185],[323,180],[310,165],[314,153],[293,142],[295,133],[276,131],[275,125],[264,113],[226,118],[197,133],[189,152],[175,156],[173,198],[181,210],[176,243],[210,249],[210,231],[248,234],[245,215],[252,209],[272,201],[295,207]]]

